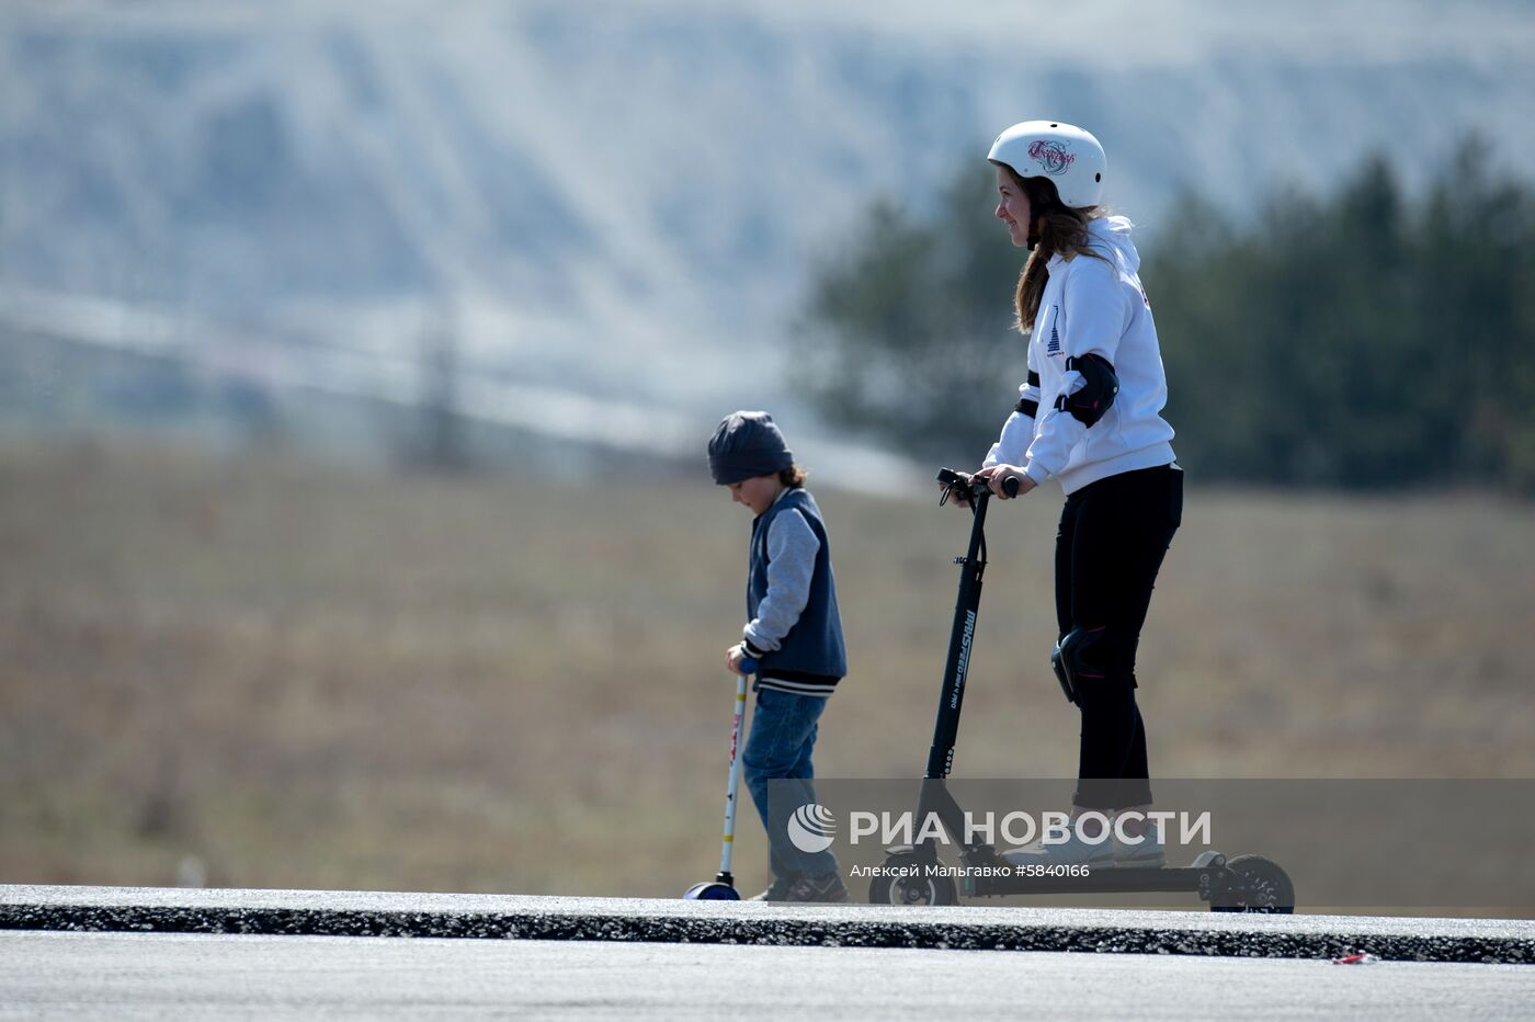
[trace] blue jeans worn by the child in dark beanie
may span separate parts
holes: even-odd
[[[741,752],[741,772],[768,832],[768,862],[774,876],[837,872],[837,856],[829,850],[806,853],[789,841],[789,818],[794,810],[815,801],[810,752],[815,749],[815,721],[824,709],[824,695],[757,689],[757,709]],[[769,781],[774,781],[772,798]]]

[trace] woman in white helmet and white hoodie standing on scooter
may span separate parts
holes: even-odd
[[[1082,714],[1073,821],[1114,826],[1005,853],[1013,862],[1165,864],[1151,806],[1136,645],[1162,557],[1182,520],[1183,471],[1162,419],[1167,379],[1131,224],[1101,207],[1108,161],[1093,135],[1059,121],[1004,130],[989,155],[996,218],[1028,250],[1015,295],[1028,379],[978,473],[1002,500],[1059,480],[1059,641],[1051,663]],[[1117,816],[1117,818],[1116,818]]]

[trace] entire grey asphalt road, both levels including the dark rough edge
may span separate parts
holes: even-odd
[[[1380,961],[1334,965],[1348,951]],[[5,1017],[1535,1016],[1535,922],[0,885]]]

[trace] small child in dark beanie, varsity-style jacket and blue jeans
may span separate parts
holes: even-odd
[[[725,654],[735,674],[743,674],[744,658],[758,663],[757,709],[741,767],[768,830],[774,882],[754,901],[847,901],[837,856],[801,852],[787,832],[789,815],[815,803],[817,720],[847,674],[826,523],[804,490],[804,470],[766,411],[737,411],[720,420],[709,440],[709,473],[757,516],[748,551],[746,628]],[[771,807],[769,781],[780,781]]]

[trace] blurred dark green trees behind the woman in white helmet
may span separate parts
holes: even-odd
[[[1535,493],[1535,192],[1472,137],[1409,196],[1368,158],[1233,218],[1180,198],[1142,281],[1179,460],[1202,480]],[[832,420],[975,463],[1016,401],[1022,267],[990,170],[880,203],[817,272],[797,384]]]

